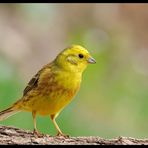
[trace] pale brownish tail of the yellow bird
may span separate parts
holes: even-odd
[[[20,110],[14,108],[13,106],[1,111],[0,112],[0,121],[7,119],[8,117],[16,114],[17,112],[20,112]]]

